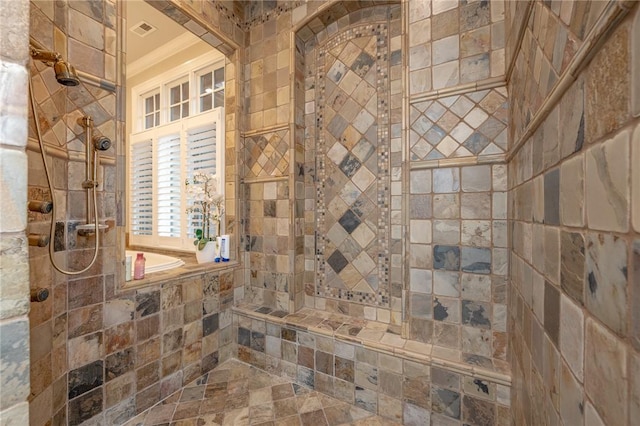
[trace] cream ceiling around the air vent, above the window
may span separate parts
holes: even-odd
[[[127,65],[140,60],[155,49],[177,39],[178,37],[197,40],[197,37],[178,25],[176,22],[149,6],[144,0],[127,0]],[[157,30],[140,37],[131,31],[141,21],[157,28]],[[189,44],[189,43],[185,43]]]

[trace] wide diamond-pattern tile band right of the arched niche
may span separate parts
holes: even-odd
[[[504,153],[507,148],[504,88],[414,103],[411,160],[437,160]]]

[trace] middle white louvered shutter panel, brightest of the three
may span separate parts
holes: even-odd
[[[180,237],[182,220],[180,170],[180,134],[163,136],[158,139],[157,153],[157,209],[158,235]]]

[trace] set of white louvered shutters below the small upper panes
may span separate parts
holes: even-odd
[[[216,108],[131,135],[130,244],[193,250],[202,221],[186,213],[184,182],[196,172],[213,173],[222,193],[222,116]]]

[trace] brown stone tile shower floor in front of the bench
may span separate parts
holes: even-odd
[[[391,426],[398,423],[233,359],[126,425]]]

